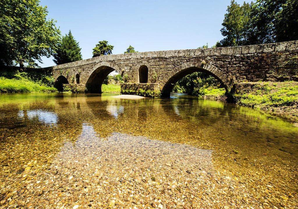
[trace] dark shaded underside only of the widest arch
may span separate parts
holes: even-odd
[[[199,68],[199,67],[189,67],[186,68],[184,70],[179,71],[178,73],[176,73],[174,76],[172,76],[171,78],[169,78],[169,80],[166,82],[166,84],[164,84],[164,87],[162,88],[162,92],[161,92],[161,96],[162,97],[170,97],[170,93],[172,92],[175,84],[182,78],[184,78],[187,75],[190,75],[192,73],[201,73],[199,76],[197,76],[197,78],[195,79],[194,83],[198,84],[198,82],[204,82],[203,79],[201,79],[201,76],[204,76],[205,78],[209,78],[209,80],[212,81],[212,78],[214,78],[214,80],[216,82],[219,83],[219,87],[224,88],[224,91],[227,92],[228,91],[228,87],[226,84],[224,84],[224,82],[215,74],[211,73],[208,70],[205,70],[203,68]],[[203,80],[203,81],[202,81]],[[189,93],[189,92],[187,92]]]

